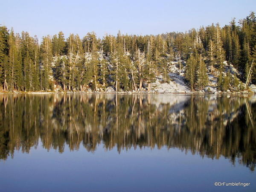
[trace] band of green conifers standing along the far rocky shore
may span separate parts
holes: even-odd
[[[246,81],[256,58],[256,17],[235,19],[220,27],[212,24],[188,32],[160,35],[105,35],[89,32],[83,38],[63,32],[44,36],[41,43],[28,32],[15,34],[0,26],[0,84],[2,91],[150,90],[161,77],[169,82],[169,67],[178,62],[179,74],[192,90],[208,84],[209,73],[218,74],[218,89],[236,89]],[[182,61],[186,61],[183,65]],[[225,75],[224,63],[233,64],[238,76]],[[255,66],[255,65],[254,65]],[[256,67],[250,82],[256,83]]]

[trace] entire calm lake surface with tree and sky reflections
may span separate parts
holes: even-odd
[[[256,96],[0,95],[3,192],[255,192],[255,165]]]

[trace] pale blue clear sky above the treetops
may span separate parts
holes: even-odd
[[[0,0],[0,24],[42,38],[64,32],[156,35],[228,24],[256,11],[256,0]]]

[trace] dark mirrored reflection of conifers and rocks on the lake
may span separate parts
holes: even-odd
[[[41,141],[60,153],[178,148],[254,171],[256,96],[0,95],[0,160]]]

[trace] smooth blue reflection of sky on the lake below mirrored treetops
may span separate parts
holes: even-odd
[[[215,187],[215,181],[254,183],[256,175],[228,159],[202,159],[166,147],[151,150],[105,151],[99,145],[93,153],[41,146],[29,154],[15,152],[15,158],[0,163],[0,191],[253,191],[251,187]],[[3,190],[4,189],[4,190]],[[6,190],[8,189],[8,190]]]

